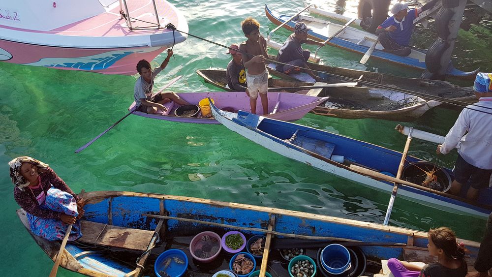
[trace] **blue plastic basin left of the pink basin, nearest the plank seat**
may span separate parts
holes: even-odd
[[[176,262],[176,258],[181,262]],[[154,263],[154,273],[157,277],[180,277],[188,268],[188,257],[180,249],[169,249],[162,252]],[[163,274],[166,273],[167,275]],[[162,274],[162,275],[161,275]]]

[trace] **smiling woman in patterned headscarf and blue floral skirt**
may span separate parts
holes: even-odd
[[[84,216],[84,199],[44,162],[20,156],[8,164],[15,201],[26,211],[31,232],[49,241],[63,240],[68,224],[73,224],[68,240],[80,238],[77,219]]]

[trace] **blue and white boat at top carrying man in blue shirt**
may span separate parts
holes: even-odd
[[[266,4],[265,15],[277,26],[281,25],[290,18],[290,16],[279,15],[271,11]],[[311,31],[307,32],[308,37],[317,41],[326,41],[330,36],[334,35],[337,31],[344,27],[343,25],[338,25],[333,22],[304,15],[297,16],[294,20],[287,22],[287,24],[283,27],[287,30],[294,31],[294,26],[298,22],[304,22],[311,29]],[[327,44],[364,55],[368,51],[369,47],[374,44],[376,39],[377,35],[373,33],[348,26],[338,35],[333,37],[329,42],[327,42]],[[426,69],[426,52],[417,48],[412,48],[412,53],[409,56],[401,57],[383,51],[383,46],[378,43],[374,49],[374,52],[372,52],[371,57],[387,62],[394,62],[403,66]],[[464,72],[454,68],[454,66],[450,63],[447,74],[458,78],[474,78],[477,72],[478,69],[475,71]]]

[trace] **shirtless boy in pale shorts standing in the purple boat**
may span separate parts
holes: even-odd
[[[265,61],[268,59],[267,42],[260,34],[260,23],[252,17],[241,22],[241,29],[246,41],[239,45],[239,51],[246,68],[246,94],[249,96],[251,113],[256,114],[258,94],[263,107],[263,114],[268,114],[268,71]]]

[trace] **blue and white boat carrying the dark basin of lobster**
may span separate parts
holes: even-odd
[[[278,154],[306,163],[316,169],[338,175],[370,188],[391,192],[393,184],[368,177],[368,174],[357,170],[362,166],[370,172],[385,172],[396,176],[401,160],[401,153],[367,142],[351,139],[338,134],[315,128],[267,119],[240,111],[229,113],[212,106],[215,120],[230,130],[247,139],[270,149]],[[332,156],[333,155],[333,156]],[[334,161],[336,156],[344,156],[340,162]],[[422,161],[416,157],[407,156],[405,165]],[[452,171],[444,169],[452,178]],[[377,174],[376,174],[377,175]],[[381,179],[381,178],[379,178]],[[469,214],[477,217],[487,217],[492,212],[492,189],[481,191],[476,204],[462,197],[453,197],[442,192],[431,192],[429,188],[415,185],[400,185],[398,194],[410,201],[437,207],[442,210],[452,210],[458,214]]]

